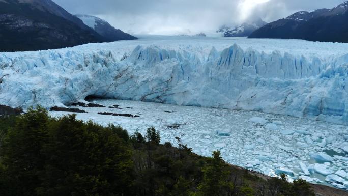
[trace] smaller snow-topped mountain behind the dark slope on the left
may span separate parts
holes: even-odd
[[[123,31],[119,29],[115,29],[107,21],[100,19],[98,17],[90,16],[90,15],[80,15],[80,14],[75,16],[81,19],[85,25],[88,25],[98,34],[106,38],[107,41],[109,42],[113,42],[117,40],[137,39],[136,37],[131,36],[127,33],[124,33]]]

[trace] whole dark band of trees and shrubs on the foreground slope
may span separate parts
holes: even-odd
[[[303,180],[260,177],[206,158],[177,139],[160,144],[159,132],[129,135],[121,127],[56,119],[38,107],[0,118],[0,195],[311,196]]]

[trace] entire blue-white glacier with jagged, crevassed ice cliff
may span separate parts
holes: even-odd
[[[346,51],[301,40],[151,38],[0,53],[0,104],[63,106],[95,95],[347,124]]]

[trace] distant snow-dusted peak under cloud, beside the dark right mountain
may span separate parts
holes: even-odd
[[[265,24],[267,24],[267,22],[258,18],[255,21],[244,22],[242,25],[236,27],[221,26],[217,32],[223,33],[225,37],[247,37]]]

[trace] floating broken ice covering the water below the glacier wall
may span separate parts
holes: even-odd
[[[102,125],[113,123],[142,134],[154,126],[162,143],[176,144],[180,137],[193,152],[210,156],[220,150],[231,164],[266,175],[281,173],[289,179],[331,184],[348,189],[348,127],[258,111],[179,106],[161,103],[97,99],[99,107],[77,107],[81,120]],[[108,108],[118,105],[118,108]],[[98,115],[99,112],[131,114],[137,118]],[[68,113],[50,111],[54,117]]]

